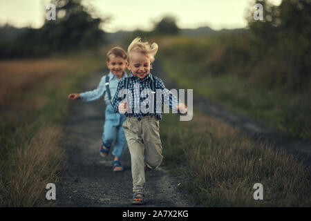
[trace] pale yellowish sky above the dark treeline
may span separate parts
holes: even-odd
[[[281,0],[270,0],[279,4]],[[0,24],[40,28],[44,23],[48,0],[0,0]],[[244,28],[245,15],[252,10],[253,0],[83,0],[98,14],[111,17],[104,23],[106,32],[117,30],[151,30],[152,22],[164,15],[176,17],[180,28],[210,26]]]

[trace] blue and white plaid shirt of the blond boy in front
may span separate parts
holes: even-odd
[[[166,106],[173,109],[173,113],[179,113],[176,106],[180,103],[180,100],[173,96],[171,91],[165,88],[164,83],[160,78],[149,73],[149,75],[144,77],[144,79],[140,79],[139,77],[133,75],[133,73],[130,73],[128,79],[129,95],[126,95],[128,111],[124,114],[126,117],[144,117],[155,115],[157,119],[162,119],[162,104],[166,104]],[[151,81],[156,83],[156,96],[154,96],[154,99],[157,101],[160,100],[160,102],[156,102],[156,108],[153,108],[154,101],[151,100],[152,93],[150,84],[153,84]],[[115,92],[115,97],[113,97],[112,102],[116,113],[119,113],[119,104],[122,100],[124,100],[125,93],[122,89],[125,88],[125,79],[121,79],[117,85],[117,91]],[[149,111],[149,105],[152,105],[151,111]]]

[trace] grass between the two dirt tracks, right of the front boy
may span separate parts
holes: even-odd
[[[185,186],[204,206],[311,205],[308,166],[222,119],[198,113],[191,122],[165,117],[160,131],[165,164],[179,168]],[[263,184],[264,200],[253,198],[256,183]]]

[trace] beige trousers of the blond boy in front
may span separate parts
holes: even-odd
[[[145,165],[156,169],[163,159],[159,121],[153,116],[127,117],[122,126],[131,154],[133,192],[144,193]]]

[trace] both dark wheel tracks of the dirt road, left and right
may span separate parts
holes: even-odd
[[[159,62],[153,65],[153,71],[163,79],[167,88],[177,88],[164,74]],[[95,88],[101,77],[102,73],[91,75],[81,91]],[[104,101],[77,101],[71,102],[71,105],[62,140],[62,146],[66,148],[68,155],[68,169],[64,171],[62,181],[57,186],[57,206],[132,206],[131,159],[128,149],[126,148],[122,158],[124,171],[120,173],[112,171],[112,155],[103,158],[99,154],[106,108]],[[228,111],[227,108],[196,95],[195,91],[194,106],[202,113],[225,119],[252,137],[270,140],[308,164],[311,162],[310,142],[290,140],[267,124]],[[144,206],[199,206],[191,202],[191,197],[184,189],[178,187],[180,180],[170,177],[162,168],[147,172],[146,180]]]

